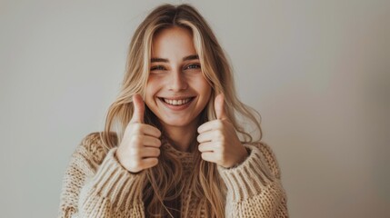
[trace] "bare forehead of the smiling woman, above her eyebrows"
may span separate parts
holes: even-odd
[[[196,54],[192,32],[183,27],[165,28],[155,33],[152,57]]]

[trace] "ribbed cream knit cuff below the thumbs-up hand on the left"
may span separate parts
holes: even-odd
[[[115,157],[116,147],[105,156],[91,183],[102,197],[110,199],[115,207],[129,208],[142,203],[142,188],[145,173],[130,173]]]

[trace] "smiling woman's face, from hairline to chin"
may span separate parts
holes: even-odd
[[[180,27],[163,29],[153,38],[145,104],[165,128],[195,127],[211,95],[202,74],[192,33]]]

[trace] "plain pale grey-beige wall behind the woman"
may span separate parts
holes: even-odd
[[[188,1],[262,114],[292,217],[390,217],[390,2]],[[2,217],[55,217],[131,35],[162,1],[0,1]],[[173,3],[178,3],[177,1]]]

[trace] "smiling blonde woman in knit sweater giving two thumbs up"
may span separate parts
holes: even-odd
[[[204,18],[161,5],[135,31],[105,131],[73,154],[60,217],[287,217],[275,156],[260,139]]]

